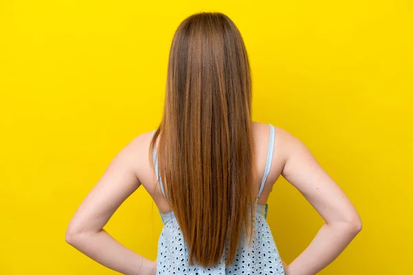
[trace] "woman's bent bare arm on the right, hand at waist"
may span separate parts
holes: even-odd
[[[354,206],[296,137],[279,129],[286,162],[282,175],[319,212],[326,223],[308,248],[286,268],[286,275],[313,275],[332,263],[361,230]]]

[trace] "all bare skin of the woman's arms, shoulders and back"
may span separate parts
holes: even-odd
[[[270,129],[253,122],[257,166],[264,175]],[[109,164],[72,217],[66,241],[94,261],[123,274],[156,274],[156,261],[125,248],[103,227],[120,204],[141,185],[149,192],[160,212],[171,209],[156,186],[156,175],[148,158],[151,132],[131,140]],[[290,265],[283,261],[287,275],[313,275],[322,270],[347,247],[361,230],[361,219],[335,181],[318,164],[308,148],[284,129],[275,127],[271,170],[258,203],[265,204],[279,176],[293,184],[326,223],[308,248]],[[256,182],[259,189],[260,182]]]

